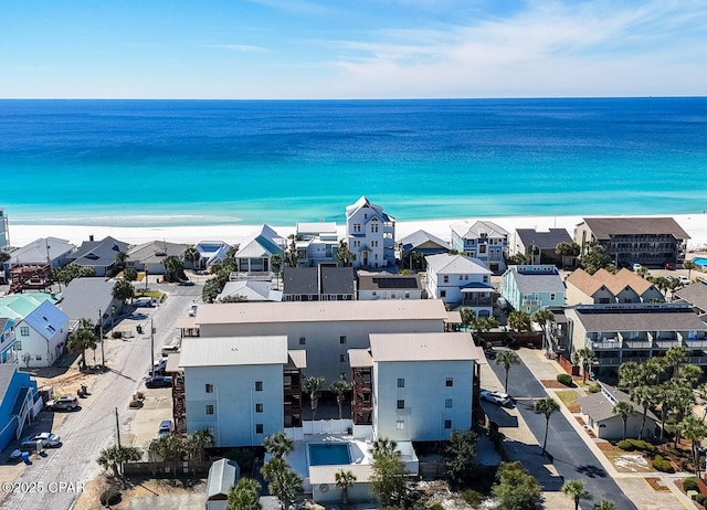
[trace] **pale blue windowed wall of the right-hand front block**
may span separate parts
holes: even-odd
[[[472,425],[473,361],[373,362],[373,431],[395,440],[444,440]],[[447,378],[452,386],[446,385]],[[404,380],[399,387],[398,379]],[[398,408],[398,401],[404,408]],[[446,407],[451,400],[452,407]],[[444,422],[451,421],[445,428]]]

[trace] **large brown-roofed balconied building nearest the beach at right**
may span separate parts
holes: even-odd
[[[677,266],[685,261],[687,240],[672,217],[585,217],[574,232],[582,254],[597,244],[616,267]]]

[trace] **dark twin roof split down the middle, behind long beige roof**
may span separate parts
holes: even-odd
[[[285,267],[283,295],[354,294],[352,267]]]

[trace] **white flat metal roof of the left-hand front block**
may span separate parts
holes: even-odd
[[[179,366],[287,364],[287,337],[186,337]]]

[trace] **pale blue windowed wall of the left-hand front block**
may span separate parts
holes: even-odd
[[[256,381],[262,391],[256,391]],[[207,384],[213,392],[207,393]],[[282,364],[203,366],[184,369],[187,434],[213,427],[214,446],[261,445],[283,429]],[[256,412],[256,404],[263,411]],[[213,405],[213,414],[205,406]],[[256,424],[263,432],[256,433]]]

